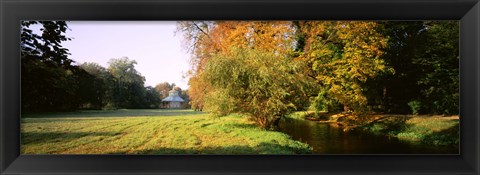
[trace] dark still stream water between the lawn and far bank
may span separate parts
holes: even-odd
[[[359,129],[344,131],[326,123],[302,119],[282,119],[281,132],[313,147],[315,154],[458,154],[455,147],[403,142],[395,137],[376,135]]]

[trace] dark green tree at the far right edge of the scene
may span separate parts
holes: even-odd
[[[421,68],[417,84],[421,87],[423,112],[459,114],[459,23],[425,22],[422,47],[413,63]]]

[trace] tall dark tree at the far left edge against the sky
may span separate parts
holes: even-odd
[[[38,26],[39,31],[31,26]],[[78,107],[79,69],[61,45],[70,40],[65,36],[67,29],[65,21],[21,22],[22,111]]]

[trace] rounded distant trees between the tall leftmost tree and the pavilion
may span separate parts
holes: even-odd
[[[111,59],[108,64],[108,68],[96,63],[80,65],[91,76],[89,84],[79,89],[90,97],[81,108],[158,108],[161,96],[155,88],[144,87],[145,77],[135,70],[135,60],[123,57]]]

